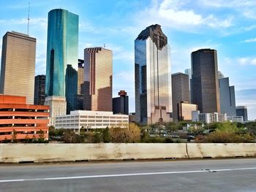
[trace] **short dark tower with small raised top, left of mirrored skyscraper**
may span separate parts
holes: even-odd
[[[118,96],[113,98],[113,114],[129,115],[129,97],[127,92],[121,90],[118,92]]]

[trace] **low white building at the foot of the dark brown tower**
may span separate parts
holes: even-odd
[[[221,114],[218,112],[212,113],[200,113],[199,111],[192,111],[192,121],[195,122],[205,122],[205,123],[214,123],[214,122],[225,122],[227,121],[227,114]]]

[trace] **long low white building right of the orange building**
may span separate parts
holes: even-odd
[[[76,132],[80,132],[80,128],[127,128],[128,124],[129,115],[101,111],[72,111],[70,115],[61,115],[55,120],[55,128],[70,128]]]

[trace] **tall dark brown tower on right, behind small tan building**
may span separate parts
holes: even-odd
[[[202,113],[220,112],[217,51],[197,50],[191,53],[192,104]]]

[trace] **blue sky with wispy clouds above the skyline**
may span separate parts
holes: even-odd
[[[26,33],[29,0],[1,0],[0,7],[0,36]],[[216,49],[219,71],[235,85],[236,105],[246,105],[249,120],[256,119],[255,0],[31,0],[30,7],[36,74],[46,69],[48,12],[67,9],[79,15],[79,58],[86,47],[113,50],[113,96],[126,90],[129,112],[134,112],[134,40],[158,23],[170,45],[172,73],[190,68],[192,51]]]

